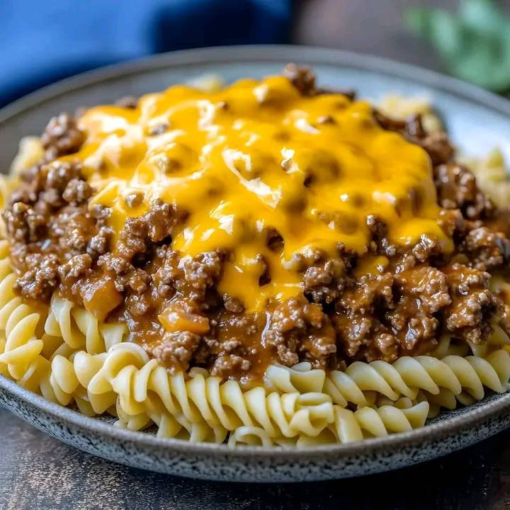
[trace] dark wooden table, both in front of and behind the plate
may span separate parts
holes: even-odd
[[[500,2],[507,7],[510,1]],[[293,40],[441,69],[402,28],[404,8],[454,0],[303,0]],[[353,84],[356,86],[356,84]],[[297,485],[186,480],[65,446],[0,409],[0,509],[510,509],[510,432],[441,460],[354,480]]]

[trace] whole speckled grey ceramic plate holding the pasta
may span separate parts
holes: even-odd
[[[0,111],[0,168],[7,169],[18,141],[38,134],[47,120],[77,106],[108,103],[128,94],[165,89],[203,74],[226,81],[262,77],[287,62],[314,67],[324,87],[356,89],[363,98],[383,94],[429,96],[455,144],[471,154],[502,148],[510,157],[510,102],[433,72],[375,57],[307,47],[228,47],[189,50],[122,64],[62,81]],[[209,480],[327,480],[396,469],[445,455],[510,426],[510,394],[441,414],[423,429],[362,443],[307,450],[191,444],[117,429],[47,402],[0,377],[0,403],[33,426],[82,450],[148,470]]]

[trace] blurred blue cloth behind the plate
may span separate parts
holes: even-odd
[[[0,0],[0,106],[77,72],[288,38],[291,0]]]

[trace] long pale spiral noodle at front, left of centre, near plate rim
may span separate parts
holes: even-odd
[[[106,357],[81,351],[73,366],[76,377],[69,378],[74,384],[67,394],[79,384],[91,395],[113,392],[120,421],[128,428],[147,425],[149,416],[155,423],[164,421],[166,432],[160,433],[171,436],[182,427],[193,432],[194,424],[208,426],[215,437],[239,426],[258,426],[270,437],[292,437],[318,435],[333,421],[333,404],[324,393],[280,394],[264,387],[243,392],[234,380],[221,382],[200,371],[186,380],[182,373],[169,375],[136,344],[117,344]]]

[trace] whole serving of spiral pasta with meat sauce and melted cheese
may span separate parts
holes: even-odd
[[[208,79],[195,85],[202,91],[176,87],[142,98],[131,110],[92,109],[79,127],[60,117],[52,120],[59,129],[23,139],[11,176],[0,181],[7,208],[6,240],[0,240],[1,375],[88,416],[108,413],[118,427],[232,448],[307,448],[407,432],[441,409],[510,389],[508,261],[497,251],[508,241],[485,225],[494,205],[476,187],[467,205],[456,205],[460,218],[448,216],[452,199],[441,202],[444,190],[429,175],[431,163],[438,180],[456,165],[441,120],[425,100],[391,96],[373,112],[343,94],[321,95],[310,89],[310,74],[298,75],[301,81],[290,74],[227,89]],[[184,99],[188,102],[179,102]],[[202,105],[197,111],[196,101]],[[181,131],[188,132],[189,147],[175,142],[182,132],[167,132],[171,123],[154,113],[167,102],[178,112],[175,122],[183,122]],[[195,113],[186,113],[183,105]],[[206,112],[207,105],[214,108]],[[266,111],[253,113],[261,105]],[[225,121],[229,108],[244,108],[249,120]],[[336,111],[346,113],[336,118]],[[115,112],[124,135],[108,132],[108,115]],[[220,120],[210,125],[215,112]],[[205,152],[200,152],[203,132],[188,125],[193,115],[212,137]],[[344,123],[341,132],[337,123]],[[314,147],[307,134],[319,133],[320,126],[333,130],[334,137]],[[243,130],[251,133],[253,153],[234,147]],[[290,150],[282,149],[282,140],[293,147],[279,167],[285,170],[276,179],[283,181],[280,188],[271,188],[273,177],[264,174],[274,154],[263,152],[266,146],[259,147],[257,137],[278,154]],[[337,137],[339,151],[327,152]],[[235,176],[227,184],[234,188],[230,195],[211,156],[214,144],[224,139],[233,144],[221,154]],[[358,148],[345,149],[351,145]],[[438,145],[446,156],[436,151]],[[401,172],[400,182],[390,171],[369,196],[363,188],[373,176],[362,154],[368,146],[377,164],[402,166],[409,175]],[[140,162],[139,152],[145,158],[147,150],[148,159]],[[53,152],[55,161],[44,159]],[[182,174],[183,166],[197,164],[196,152],[212,174]],[[394,153],[399,159],[392,159]],[[482,191],[500,208],[506,205],[510,181],[501,155],[471,163]],[[20,178],[33,165],[46,187],[23,195]],[[339,168],[360,190],[341,180]],[[463,171],[455,166],[456,176]],[[132,178],[124,179],[123,172]],[[364,175],[361,181],[358,173]],[[188,181],[199,178],[206,192],[200,188],[197,195]],[[180,190],[175,196],[171,186]],[[368,229],[360,227],[356,212],[333,202],[339,190],[345,191],[344,203],[356,196],[354,208],[371,217]],[[13,193],[21,197],[18,202],[10,198]],[[156,208],[147,208],[144,193],[159,199]],[[250,193],[263,196],[262,204],[254,207]],[[43,201],[30,203],[34,194]],[[320,200],[303,212],[314,194]],[[388,194],[399,203],[395,217],[395,211],[388,213]],[[224,198],[215,202],[217,196]],[[176,208],[169,209],[171,200],[190,210],[179,217]],[[204,204],[214,207],[201,209]],[[235,216],[243,208],[246,214]],[[254,228],[248,225],[250,214],[256,217]],[[482,227],[473,229],[476,235],[464,232],[463,244],[455,246],[448,228],[458,228],[460,219]],[[43,220],[51,222],[49,230]],[[440,220],[448,225],[438,227]],[[179,221],[185,227],[174,232]],[[301,234],[289,228],[293,222],[302,225]],[[390,227],[393,237],[387,236]],[[314,246],[317,236],[322,237]],[[414,247],[398,248],[399,237],[414,239],[408,243]],[[331,243],[340,258],[331,256]],[[229,256],[217,249],[230,250]],[[458,250],[450,266],[433,261],[448,250]],[[470,265],[459,268],[460,263]],[[489,271],[490,283],[482,270]],[[463,302],[465,295],[470,302]]]

